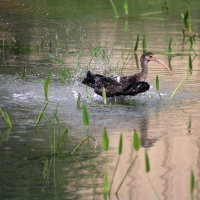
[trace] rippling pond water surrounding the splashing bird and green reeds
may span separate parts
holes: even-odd
[[[8,128],[0,116],[2,200],[108,199],[103,194],[104,175],[107,171],[110,185],[120,133],[123,153],[110,199],[156,199],[150,177],[159,199],[188,200],[191,170],[196,180],[194,198],[200,199],[200,2],[168,1],[166,13],[162,12],[165,1],[127,1],[128,17],[124,1],[113,2],[118,19],[106,0],[1,0],[0,108],[9,114],[13,124],[12,129]],[[181,13],[187,7],[196,32],[194,51],[188,37],[183,41],[182,36]],[[139,49],[134,55],[138,33]],[[150,63],[149,91],[135,97],[111,98],[104,106],[102,97],[90,88],[87,92],[81,84],[87,70],[108,75],[137,73],[140,69],[135,57],[142,55],[144,35],[147,51],[171,65],[173,75],[157,63]],[[97,46],[102,46],[101,52],[92,57]],[[189,54],[192,75],[171,100],[174,89],[189,72]],[[43,83],[50,72],[49,102],[36,127],[45,101]],[[65,72],[67,78],[61,83],[61,73]],[[156,91],[156,75],[162,100]],[[88,128],[82,122],[82,109],[77,108],[79,93],[88,109]],[[101,150],[104,127],[110,139],[108,153]],[[65,129],[68,135],[64,152],[53,154],[54,136]],[[116,196],[136,155],[132,145],[134,130],[140,135],[142,147]],[[97,140],[95,152],[91,140],[72,156],[74,147],[88,134]],[[145,172],[145,149],[151,164],[149,176]]]

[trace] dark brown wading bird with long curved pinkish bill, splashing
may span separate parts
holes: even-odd
[[[111,76],[107,77],[100,74],[92,74],[87,72],[86,78],[83,80],[83,84],[94,88],[94,92],[102,96],[103,88],[106,90],[107,97],[130,95],[135,96],[139,93],[146,92],[149,89],[149,84],[145,82],[148,74],[148,62],[155,61],[166,67],[171,73],[170,69],[165,63],[157,59],[156,56],[147,52],[140,57],[141,72],[130,76]]]

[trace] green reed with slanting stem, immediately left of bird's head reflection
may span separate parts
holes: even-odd
[[[128,176],[129,172],[131,171],[132,167],[134,166],[135,164],[135,161],[137,160],[138,158],[138,152],[139,152],[139,149],[140,149],[140,138],[139,138],[139,135],[137,133],[136,130],[134,130],[134,133],[133,133],[133,148],[134,150],[136,151],[136,155],[133,159],[133,161],[131,162],[131,164],[129,165],[128,169],[126,170],[126,173],[124,175],[124,177],[122,178],[117,190],[116,190],[116,195],[118,194],[120,188],[122,187],[126,177]]]

